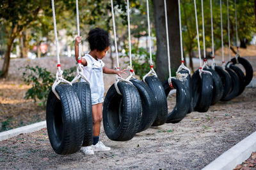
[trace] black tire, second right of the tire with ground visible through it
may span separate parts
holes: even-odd
[[[219,74],[211,69],[211,67],[205,67],[204,70],[212,73],[213,89],[212,89],[212,104],[216,104],[223,96],[223,86]]]

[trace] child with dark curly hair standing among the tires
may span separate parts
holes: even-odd
[[[126,74],[124,71],[116,71],[104,67],[102,59],[109,50],[109,34],[104,29],[95,28],[88,34],[88,41],[90,44],[90,52],[82,57],[81,62],[84,66],[84,76],[91,82],[92,94],[92,116],[93,116],[93,145],[82,147],[85,154],[94,154],[94,151],[110,150],[99,141],[100,122],[102,120],[102,103],[104,100],[104,82],[103,73],[106,74]],[[75,43],[76,60],[78,62],[78,46],[81,43],[81,37],[77,36]],[[81,81],[84,81],[81,79]]]

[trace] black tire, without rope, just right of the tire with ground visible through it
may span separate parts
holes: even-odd
[[[200,77],[199,71],[196,70],[191,78],[193,106],[195,111],[205,112],[209,110],[211,105],[213,82],[211,74],[203,72],[201,76],[202,78]]]

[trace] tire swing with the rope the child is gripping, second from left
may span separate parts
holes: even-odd
[[[78,0],[76,0],[76,21],[77,36],[80,36]],[[77,93],[77,96],[79,97],[79,101],[84,115],[84,139],[82,146],[91,146],[93,144],[92,96],[90,81],[86,78],[86,76],[84,76],[83,66],[81,64],[81,44],[79,44],[78,53],[79,55],[77,75],[74,80],[71,81],[71,83]],[[79,80],[79,78],[83,78],[83,80],[81,80],[80,82],[76,82],[77,80]]]

